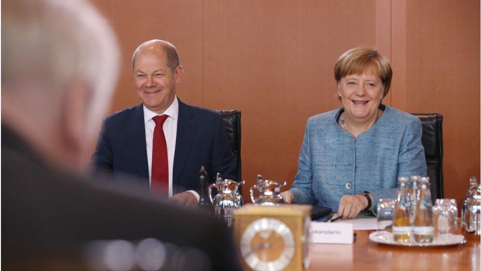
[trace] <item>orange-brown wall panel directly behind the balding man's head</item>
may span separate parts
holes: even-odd
[[[110,113],[140,103],[135,88],[132,54],[143,41],[172,42],[185,67],[179,97],[202,101],[202,1],[94,0],[109,19],[121,47],[121,73]]]

